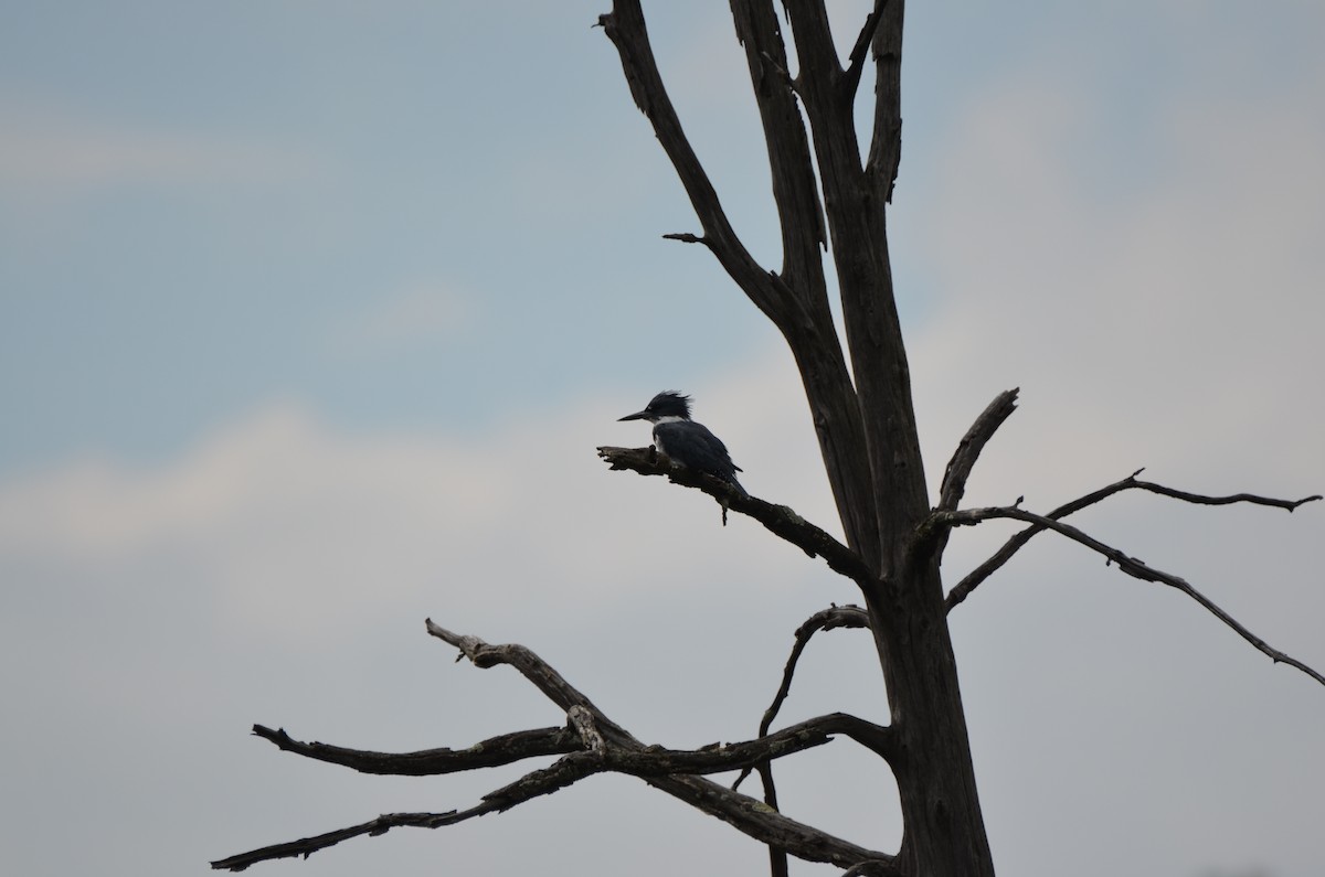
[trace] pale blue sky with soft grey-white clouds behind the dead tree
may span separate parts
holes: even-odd
[[[731,219],[776,265],[725,4],[645,4]],[[831,4],[849,44],[869,4]],[[374,778],[249,737],[464,747],[555,725],[424,617],[522,643],[649,743],[751,737],[792,631],[855,599],[705,497],[610,473],[657,391],[751,493],[837,531],[780,339],[701,248],[598,4],[4,4],[0,851],[203,873],[521,768]],[[1146,466],[1325,491],[1325,7],[908,8],[890,215],[930,488],[1022,388],[966,502],[1047,511]],[[1077,521],[1325,668],[1325,503],[1117,497]],[[1011,527],[953,539],[955,582]],[[1190,600],[1037,537],[951,616],[1000,873],[1317,877],[1325,689]],[[884,721],[861,632],[783,719]],[[788,815],[900,837],[845,741]],[[523,766],[525,768],[530,766]],[[252,873],[765,873],[628,778]],[[794,864],[803,876],[835,869]]]

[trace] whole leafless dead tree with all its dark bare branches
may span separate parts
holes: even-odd
[[[474,665],[505,664],[519,670],[564,710],[566,725],[515,731],[461,750],[408,754],[303,743],[284,730],[262,726],[254,726],[253,733],[282,750],[370,774],[435,775],[534,756],[556,756],[556,760],[494,790],[469,809],[388,813],[326,835],[232,856],[212,862],[213,868],[242,870],[264,860],[307,856],[350,837],[380,835],[396,827],[439,828],[509,809],[592,774],[615,771],[639,776],[766,844],[774,874],[786,873],[790,854],[831,862],[852,874],[991,876],[994,864],[975,788],[947,613],[1032,537],[1045,531],[1104,555],[1121,572],[1178,588],[1272,660],[1291,664],[1325,684],[1320,673],[1267,645],[1183,579],[1065,522],[1073,513],[1125,490],[1191,503],[1246,502],[1289,511],[1320,497],[1298,501],[1251,494],[1208,497],[1141,481],[1137,472],[1048,513],[1022,509],[1020,501],[1003,507],[963,509],[961,501],[971,468],[1015,408],[1016,391],[1011,389],[977,417],[943,473],[938,503],[930,505],[886,234],[886,208],[901,156],[902,0],[876,3],[844,60],[833,48],[823,0],[784,0],[782,5],[794,40],[795,70],[775,4],[731,0],[763,123],[780,220],[783,257],[776,270],[757,262],[727,221],[664,89],[639,0],[617,0],[599,24],[620,53],[635,103],[653,126],[698,217],[698,233],[666,237],[708,248],[755,307],[772,321],[791,350],[845,544],[791,509],[738,495],[725,482],[674,466],[653,449],[600,448],[599,453],[612,469],[665,476],[713,495],[725,510],[750,515],[774,535],[810,556],[822,558],[831,570],[855,582],[863,608],[825,609],[798,629],[782,688],[755,738],[685,751],[644,745],[527,648],[489,645],[429,620],[428,632],[457,646]],[[876,101],[868,148],[863,150],[853,107],[871,61]],[[845,350],[829,311],[825,248],[836,269]],[[1027,526],[945,593],[939,562],[951,531],[990,518],[1011,518]],[[884,672],[889,723],[829,714],[771,730],[802,649],[818,631],[835,627],[865,628],[873,636]],[[772,763],[825,745],[833,737],[849,738],[882,758],[892,770],[905,827],[900,849],[859,847],[778,812]],[[765,783],[765,801],[741,794],[735,786],[706,779],[727,771],[742,771],[741,779],[758,771]]]

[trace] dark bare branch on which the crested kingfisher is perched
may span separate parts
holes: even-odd
[[[743,497],[719,478],[673,465],[666,454],[661,454],[653,448],[604,446],[598,449],[598,456],[606,460],[612,469],[631,469],[641,476],[666,476],[673,484],[702,490],[717,499],[723,509],[731,509],[754,518],[811,558],[823,558],[833,571],[861,584],[861,587],[873,579],[855,551],[787,506],[776,506],[757,497]]]

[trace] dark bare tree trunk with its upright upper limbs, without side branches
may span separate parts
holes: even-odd
[[[863,592],[900,742],[892,764],[905,817],[898,865],[926,877],[992,874],[938,554],[916,546],[930,506],[893,298],[885,213],[901,155],[902,1],[876,5],[847,68],[839,62],[823,1],[787,0],[784,5],[799,64],[795,76],[774,4],[731,0],[782,221],[783,266],[772,276],[745,269],[749,257],[666,99],[639,4],[617,3],[604,24],[621,52],[636,102],[653,122],[704,224],[702,237],[684,240],[706,244],[791,347],[847,543],[873,574]],[[873,142],[863,163],[853,105],[871,49],[877,102]],[[825,227],[837,269],[849,374],[828,309],[820,250]]]

